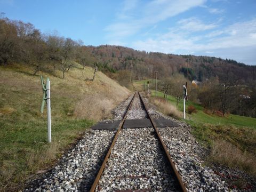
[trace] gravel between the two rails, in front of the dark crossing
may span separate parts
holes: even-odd
[[[153,128],[125,129],[118,135],[96,191],[176,191],[168,168]]]

